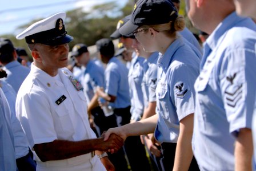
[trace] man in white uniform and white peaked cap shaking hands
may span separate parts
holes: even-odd
[[[82,86],[63,68],[67,43],[73,40],[65,30],[65,17],[52,15],[16,37],[26,39],[34,60],[17,95],[17,116],[36,154],[37,170],[114,170],[103,152],[117,151],[123,141],[116,135],[110,141],[96,138]]]

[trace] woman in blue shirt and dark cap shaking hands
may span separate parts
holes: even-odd
[[[178,16],[171,1],[143,0],[135,5],[130,21],[119,28],[123,35],[133,33],[145,51],[161,52],[157,63],[157,115],[107,133],[113,131],[125,139],[155,130],[155,138],[162,143],[165,170],[198,170],[190,142],[193,86],[199,75],[200,58],[177,35],[184,26],[183,17]]]

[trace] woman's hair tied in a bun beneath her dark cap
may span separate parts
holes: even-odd
[[[179,15],[174,21],[160,25],[143,25],[140,28],[154,28],[155,31],[166,32],[167,35],[176,35],[177,31],[182,31],[185,28],[185,19]]]

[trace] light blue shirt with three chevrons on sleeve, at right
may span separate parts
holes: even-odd
[[[201,170],[234,170],[235,136],[251,128],[256,26],[231,13],[206,40],[197,93],[193,151]]]

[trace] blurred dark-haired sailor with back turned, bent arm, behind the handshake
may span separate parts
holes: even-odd
[[[130,123],[130,95],[128,70],[125,65],[114,56],[114,44],[110,39],[100,39],[96,42],[103,63],[107,63],[105,70],[106,89],[97,89],[100,97],[110,101],[114,108],[114,115],[118,118],[118,125]],[[132,170],[150,170],[145,147],[139,136],[129,137],[125,141],[125,152]]]

